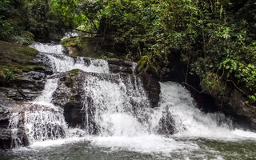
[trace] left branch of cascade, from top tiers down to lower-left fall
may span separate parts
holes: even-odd
[[[18,137],[18,126],[20,123],[18,114],[22,116],[24,130],[30,144],[66,137],[67,126],[63,110],[51,103],[52,94],[58,86],[58,73],[73,69],[95,73],[109,72],[106,61],[92,58],[70,58],[64,55],[62,45],[34,42],[31,47],[45,53],[46,57],[50,60],[54,74],[47,78],[45,89],[42,90],[42,94],[34,102],[20,106],[22,110],[14,110],[9,125],[9,128],[12,130],[14,147],[22,146],[22,140]]]

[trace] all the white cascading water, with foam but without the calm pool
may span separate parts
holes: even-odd
[[[22,105],[12,114],[9,127],[14,138],[13,146],[22,144],[18,136],[20,123],[32,146],[82,139],[100,148],[158,155],[152,159],[159,156],[189,159],[186,157],[191,157],[191,153],[202,152],[202,144],[184,138],[256,139],[253,132],[233,129],[232,122],[222,114],[202,113],[196,108],[189,91],[178,83],[160,83],[160,102],[158,107],[151,108],[142,81],[136,75],[111,73],[105,60],[70,58],[64,54],[61,45],[35,42],[32,47],[49,59],[54,74],[47,78],[45,89],[34,102]],[[135,66],[133,63],[133,71]],[[52,104],[59,74],[74,69],[87,73],[82,86],[84,128],[69,128],[62,108]],[[19,121],[19,116],[24,117],[23,122]],[[186,156],[178,156],[178,153]],[[203,155],[198,159],[208,158]],[[222,159],[222,156],[213,158]]]

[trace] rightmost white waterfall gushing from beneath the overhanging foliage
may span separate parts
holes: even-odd
[[[168,107],[174,118],[178,137],[210,138],[238,140],[255,138],[253,132],[233,130],[228,119],[223,120],[223,114],[204,114],[195,107],[194,100],[188,90],[175,82],[161,83],[160,107]]]

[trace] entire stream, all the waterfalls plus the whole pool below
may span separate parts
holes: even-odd
[[[136,76],[123,79],[120,74],[110,73],[105,60],[70,58],[61,45],[35,42],[32,47],[50,59],[54,75],[47,79],[42,95],[31,102],[37,110],[27,106],[25,111],[24,127],[30,146],[0,151],[2,159],[256,158],[255,133],[234,128],[223,114],[204,114],[196,108],[189,91],[178,83],[160,83],[159,106],[152,109]],[[83,98],[93,101],[85,102],[82,110],[89,113],[94,109],[97,135],[91,134],[94,126],[89,120],[84,130],[69,128],[63,110],[51,103],[58,74],[73,69],[95,73],[84,82]],[[10,123],[13,134],[17,131],[17,114]],[[174,134],[166,134],[170,123],[174,123]]]

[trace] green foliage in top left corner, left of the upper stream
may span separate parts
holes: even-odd
[[[3,0],[0,2],[0,40],[28,45],[76,26],[77,1]],[[34,36],[27,37],[27,31]]]

